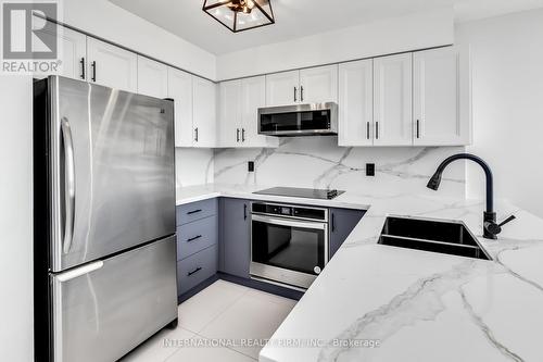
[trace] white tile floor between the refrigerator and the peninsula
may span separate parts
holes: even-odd
[[[269,338],[294,304],[291,299],[217,280],[179,305],[177,329],[163,329],[123,362],[254,362],[261,347],[207,347],[206,344]],[[165,339],[191,346],[164,346]]]

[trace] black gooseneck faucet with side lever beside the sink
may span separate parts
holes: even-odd
[[[515,216],[512,215],[507,217],[505,221],[502,223],[497,224],[496,223],[496,213],[494,212],[494,185],[493,185],[493,178],[492,178],[492,171],[490,170],[489,165],[487,162],[484,162],[482,159],[478,158],[475,154],[470,153],[458,153],[451,155],[446,160],[444,160],[439,166],[433,176],[430,178],[428,182],[427,187],[431,188],[432,190],[438,190],[440,187],[441,183],[441,175],[443,174],[443,171],[445,167],[453,161],[456,160],[471,160],[476,163],[478,163],[482,170],[484,170],[484,175],[487,176],[487,211],[483,212],[483,237],[487,239],[497,239],[496,235],[502,232],[502,226],[507,224],[508,222],[515,220]]]

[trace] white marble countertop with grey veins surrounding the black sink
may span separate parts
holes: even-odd
[[[334,200],[253,195],[265,187],[178,189],[178,204],[226,196],[368,210],[261,351],[282,361],[543,361],[543,220],[496,202],[504,226],[482,235],[481,200],[345,192]],[[462,221],[493,261],[378,245],[389,215]]]

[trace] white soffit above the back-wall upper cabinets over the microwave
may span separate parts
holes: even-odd
[[[217,78],[337,63],[453,41],[453,10],[440,8],[218,55]]]

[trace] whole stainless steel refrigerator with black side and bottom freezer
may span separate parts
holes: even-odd
[[[174,105],[34,84],[37,361],[115,361],[177,324]]]

